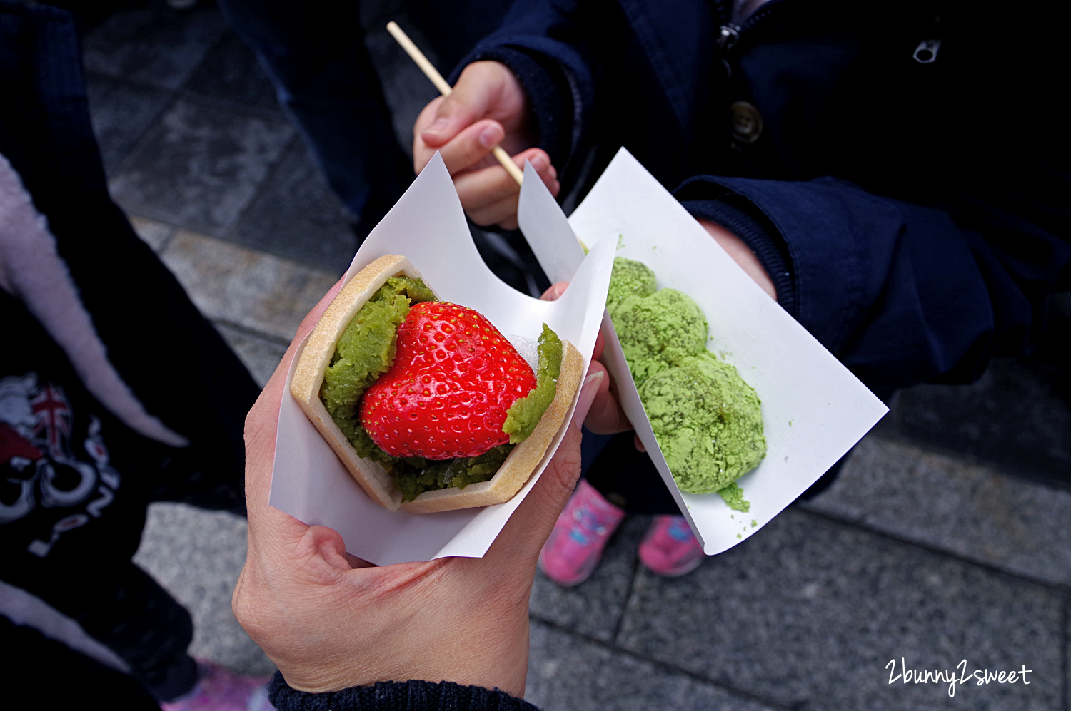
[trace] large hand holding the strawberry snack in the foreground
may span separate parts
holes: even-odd
[[[483,558],[372,567],[350,556],[337,531],[306,526],[268,504],[286,373],[296,344],[340,288],[305,318],[246,418],[250,537],[235,616],[301,691],[422,679],[522,696],[536,559],[579,476],[579,426],[569,426]],[[574,423],[583,421],[597,380],[585,381]]]

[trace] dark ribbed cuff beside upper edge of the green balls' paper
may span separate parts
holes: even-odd
[[[708,182],[689,182],[677,199],[695,218],[722,226],[755,252],[778,292],[778,304],[797,318],[796,279],[784,237],[754,203],[738,192]]]

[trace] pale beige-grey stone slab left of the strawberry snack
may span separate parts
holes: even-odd
[[[208,318],[285,342],[338,279],[185,230],[171,238],[161,259]]]

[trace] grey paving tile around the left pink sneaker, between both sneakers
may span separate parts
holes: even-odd
[[[649,523],[650,516],[624,521],[591,577],[574,588],[537,573],[529,602],[532,616],[589,637],[613,639],[638,566],[636,547]]]

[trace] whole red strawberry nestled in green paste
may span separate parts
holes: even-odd
[[[394,365],[361,399],[361,424],[394,457],[476,457],[510,435],[506,411],[536,387],[513,345],[472,309],[417,304],[397,330]]]

